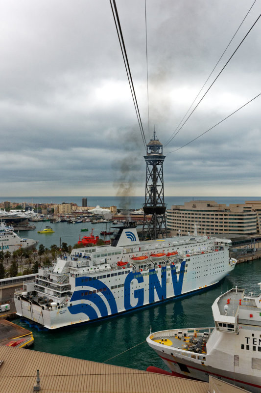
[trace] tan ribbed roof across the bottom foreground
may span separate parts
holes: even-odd
[[[37,370],[39,377],[37,378]],[[0,392],[32,393],[242,393],[210,382],[141,371],[61,355],[0,345]]]

